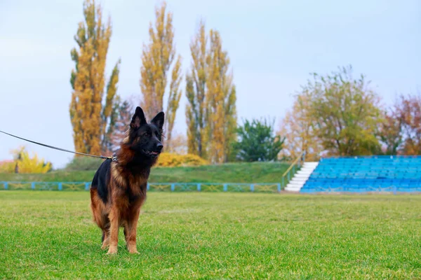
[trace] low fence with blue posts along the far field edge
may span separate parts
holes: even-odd
[[[7,182],[0,190],[89,190],[91,182]],[[149,191],[279,193],[281,183],[148,183]]]

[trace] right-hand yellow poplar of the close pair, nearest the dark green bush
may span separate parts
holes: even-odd
[[[220,33],[212,29],[206,64],[208,160],[222,163],[228,161],[236,137],[236,90],[229,72],[228,53],[222,50]]]

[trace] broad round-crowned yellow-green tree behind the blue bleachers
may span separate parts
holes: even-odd
[[[326,76],[314,73],[299,95],[308,99],[306,110],[314,120],[315,137],[330,155],[380,152],[380,99],[364,76],[352,77],[351,66]]]

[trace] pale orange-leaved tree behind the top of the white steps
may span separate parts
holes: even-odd
[[[319,160],[323,146],[316,137],[316,123],[309,113],[309,99],[305,96],[295,97],[293,108],[286,112],[278,134],[285,137],[281,158],[295,160],[305,152],[307,160]]]

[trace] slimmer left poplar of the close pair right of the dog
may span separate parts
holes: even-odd
[[[186,75],[186,121],[188,153],[207,158],[207,104],[206,104],[206,56],[208,38],[205,24],[200,22],[199,30],[190,43],[192,64]]]

